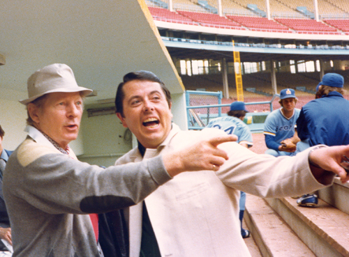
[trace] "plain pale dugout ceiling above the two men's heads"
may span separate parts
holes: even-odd
[[[27,98],[28,77],[51,63],[68,64],[78,84],[97,91],[87,104],[114,98],[135,70],[184,92],[144,0],[10,0],[0,14],[1,99]]]

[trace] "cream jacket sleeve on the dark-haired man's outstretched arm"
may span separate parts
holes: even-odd
[[[222,143],[220,148],[228,153],[229,159],[217,176],[228,187],[261,197],[283,197],[327,186],[320,184],[311,173],[308,161],[311,148],[294,157],[258,155],[236,143]],[[321,181],[333,179],[334,173],[326,173]]]

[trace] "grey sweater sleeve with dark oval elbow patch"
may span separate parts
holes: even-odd
[[[13,194],[51,214],[126,208],[171,179],[161,156],[103,169],[57,153],[43,155],[20,170],[20,180],[15,175],[8,180],[17,184]]]

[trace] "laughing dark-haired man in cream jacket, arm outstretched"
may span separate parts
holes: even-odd
[[[152,72],[125,75],[115,104],[122,124],[138,139],[138,147],[116,164],[140,162],[225,134],[211,128],[181,131],[171,122],[170,93]],[[250,256],[240,232],[240,190],[282,197],[331,185],[335,173],[342,182],[349,180],[339,165],[349,146],[316,146],[283,158],[257,155],[236,142],[219,148],[230,158],[217,173],[181,173],[126,210],[131,257]]]

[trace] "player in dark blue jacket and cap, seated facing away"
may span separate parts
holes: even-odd
[[[343,146],[349,144],[349,101],[343,98],[344,78],[336,73],[327,73],[316,87],[317,97],[302,107],[297,120],[300,140],[296,153],[310,146],[324,144]],[[301,143],[303,148],[301,148]],[[318,205],[316,194],[306,194],[297,200],[300,206]]]

